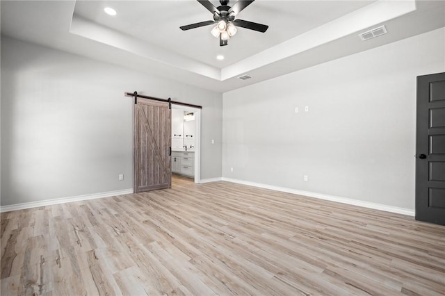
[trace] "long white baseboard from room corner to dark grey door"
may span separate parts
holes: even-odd
[[[346,197],[336,197],[336,196],[325,195],[325,194],[316,193],[316,192],[296,190],[296,189],[272,186],[272,185],[261,184],[261,183],[254,183],[254,182],[243,181],[243,180],[238,180],[238,179],[229,179],[229,178],[225,178],[225,177],[220,178],[220,179],[222,181],[227,181],[227,182],[232,182],[232,183],[238,183],[238,184],[254,186],[254,187],[259,187],[259,188],[265,188],[265,189],[270,189],[270,190],[276,190],[276,191],[281,191],[281,192],[288,192],[288,193],[293,193],[296,195],[304,195],[307,197],[315,197],[318,199],[325,199],[325,200],[329,200],[331,202],[340,202],[342,204],[351,204],[353,206],[363,206],[364,208],[373,208],[374,210],[381,210],[381,211],[387,211],[387,212],[391,212],[391,213],[398,213],[398,214],[402,214],[402,215],[409,215],[412,217],[414,217],[414,215],[415,215],[415,211],[410,210],[409,208],[398,208],[396,206],[387,206],[385,204],[375,204],[372,202],[363,202],[363,201],[360,201],[357,199],[349,199]]]

